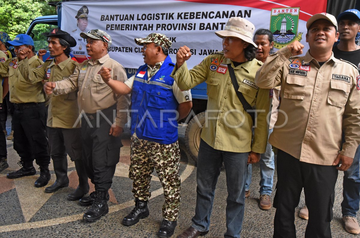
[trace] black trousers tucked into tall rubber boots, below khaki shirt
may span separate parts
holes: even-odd
[[[82,159],[81,129],[80,128],[54,128],[47,126],[49,149],[51,159],[54,161],[71,161]]]

